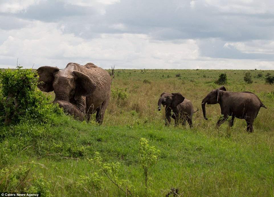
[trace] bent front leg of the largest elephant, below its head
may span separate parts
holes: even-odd
[[[83,121],[85,114],[83,112],[80,111],[80,109],[67,102],[67,101],[53,101],[53,103],[58,103],[59,107],[62,107],[64,109],[64,111],[70,115],[73,115],[76,119]]]

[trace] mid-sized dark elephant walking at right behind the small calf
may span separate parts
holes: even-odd
[[[252,92],[228,92],[224,86],[212,90],[202,101],[202,109],[204,118],[206,118],[205,104],[220,104],[221,114],[223,117],[217,122],[219,127],[224,121],[231,116],[230,127],[233,126],[234,118],[245,119],[247,123],[247,131],[253,131],[253,122],[259,113],[261,107],[265,105]]]

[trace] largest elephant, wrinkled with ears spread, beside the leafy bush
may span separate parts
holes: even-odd
[[[112,71],[113,72],[113,71]],[[38,88],[54,91],[53,103],[79,120],[96,112],[96,122],[102,124],[111,94],[109,73],[93,63],[82,66],[68,63],[65,69],[43,66],[37,69]]]

